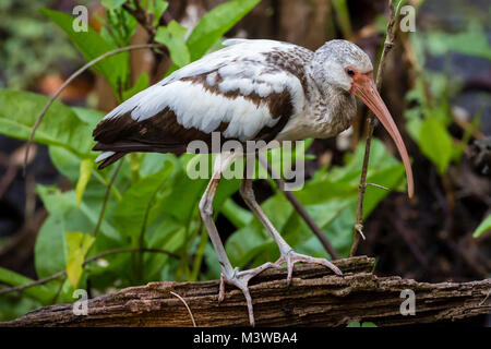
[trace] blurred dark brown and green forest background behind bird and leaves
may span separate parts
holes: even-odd
[[[104,2],[1,0],[0,88],[51,96],[85,63],[85,59],[70,37],[39,9],[71,14],[75,5],[86,5],[91,27],[100,33],[104,19],[107,21],[107,4]],[[165,24],[176,20],[191,29],[205,13],[223,2],[225,1],[169,1],[163,19]],[[491,215],[489,1],[409,0],[405,4],[412,5],[416,10],[416,31],[397,32],[396,45],[388,57],[383,76],[382,98],[395,118],[412,158],[416,197],[408,201],[404,192],[394,190],[370,208],[363,229],[367,240],[360,243],[358,254],[375,256],[379,275],[399,275],[431,282],[487,278],[491,272],[491,222],[486,225],[484,221]],[[385,0],[263,0],[227,31],[225,37],[285,40],[312,50],[326,40],[345,38],[359,45],[376,62],[385,33],[387,11]],[[140,24],[135,24],[129,40],[131,44],[145,44],[148,33]],[[145,73],[151,83],[156,82],[164,76],[171,63],[166,55],[155,55],[151,50],[132,51],[129,53],[130,80],[136,84]],[[84,72],[71,83],[61,94],[60,100],[70,107],[99,110],[101,112],[97,115],[98,118],[119,103],[108,80],[94,70]],[[4,105],[1,106],[3,107]],[[358,149],[359,144],[364,143],[367,109],[361,105],[359,107],[349,132],[337,139],[312,142],[309,147],[311,156],[307,163],[310,179],[315,180],[322,176],[322,171],[330,171],[331,168],[339,172],[339,169],[350,164],[349,155]],[[35,257],[35,250],[43,250],[41,246],[36,248],[40,243],[37,237],[52,213],[46,207],[46,202],[36,188],[39,184],[48,189],[56,185],[60,192],[73,191],[79,178],[75,176],[73,179],[67,172],[63,173],[61,166],[53,164],[53,155],[48,146],[38,143],[32,148],[24,177],[22,161],[25,141],[5,135],[7,132],[1,128],[2,123],[0,267],[37,279],[41,277],[39,269],[43,269],[36,261],[41,257]],[[89,133],[83,136],[91,139]],[[375,136],[384,143],[388,153],[396,154],[394,144],[383,128],[376,128]],[[372,158],[372,161],[376,161],[376,158]],[[107,178],[110,178],[109,172]],[[357,178],[354,179],[355,188]],[[404,188],[403,179],[398,181],[394,189]],[[104,188],[100,185],[98,190],[104,192]],[[277,196],[267,180],[255,181],[254,188],[261,202]],[[123,197],[124,195],[127,194],[123,193]],[[230,198],[231,202],[225,205],[224,212],[217,217],[218,230],[224,239],[233,237],[238,229],[244,229],[233,218],[239,214],[247,214],[243,213],[244,205],[233,194],[233,190],[230,190]],[[332,206],[326,206],[325,209],[330,207]],[[110,208],[108,209],[110,216]],[[352,214],[347,215],[347,218],[350,219],[344,226],[339,219],[332,218],[321,227],[343,256],[347,255],[352,237],[349,228],[349,224],[351,227],[354,224]],[[108,219],[110,224],[110,218]],[[205,262],[200,264],[196,270],[199,274],[194,278],[213,278],[216,276],[216,270],[212,270],[213,263],[209,262],[213,261],[213,254],[208,253],[206,242],[200,243],[203,241],[200,233],[202,228],[197,226],[197,219],[195,222],[197,232],[191,234],[195,243],[185,244],[188,252],[182,252],[184,248],[181,244],[173,251],[177,254],[184,253],[190,261],[196,261],[196,253],[203,245]],[[336,225],[340,226],[336,228]],[[287,228],[288,226],[284,227]],[[479,231],[476,233],[477,229]],[[160,241],[157,246],[161,244]],[[57,246],[59,245],[53,244],[52,250],[49,246],[44,250],[63,254]],[[306,245],[304,249],[309,250],[309,246]],[[96,250],[104,251],[100,246]],[[236,262],[241,266],[256,264],[261,262],[260,255],[263,258],[271,257],[265,252],[258,252],[254,256],[244,256],[240,263]],[[113,263],[122,264],[127,260],[131,262],[131,256],[115,258]],[[111,261],[109,260],[110,263]],[[152,263],[155,269],[161,269],[170,262]],[[192,279],[185,277],[187,273],[179,272],[179,263],[182,262],[176,263],[172,264],[175,269],[154,273],[152,276],[144,274],[144,277],[129,277],[128,281],[121,281],[121,277],[117,276],[107,277],[103,281],[104,273],[94,269],[94,279],[91,280],[85,275],[84,285],[92,287],[93,294],[97,294],[154,279]],[[56,268],[48,267],[43,272],[44,276],[49,275],[48,270],[56,272]],[[117,274],[118,269],[112,272]],[[89,274],[87,270],[84,273]],[[11,286],[4,280],[0,281]],[[59,296],[58,290],[63,290],[67,286],[52,282],[46,287],[53,289]],[[69,298],[56,298],[53,302],[63,299],[67,301]],[[45,303],[25,294],[2,294],[0,321],[19,316]]]

